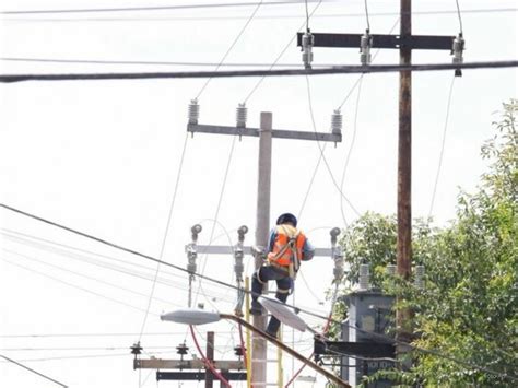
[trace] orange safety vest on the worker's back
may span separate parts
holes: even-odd
[[[275,232],[275,242],[272,251],[268,254],[268,261],[286,268],[293,264],[296,272],[303,257],[306,236],[291,225],[279,225]]]

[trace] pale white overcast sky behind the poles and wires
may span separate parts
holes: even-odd
[[[156,0],[153,5],[192,3]],[[1,10],[142,4],[129,0],[4,0]],[[467,62],[517,59],[514,1],[459,4]],[[316,5],[309,2],[309,10]],[[214,70],[254,9],[2,14],[0,73]],[[395,26],[398,32],[399,2],[369,1],[368,12],[372,33],[387,34]],[[415,0],[413,12],[414,34],[459,33],[454,0]],[[268,68],[287,45],[279,63],[302,67],[299,49],[289,42],[304,21],[303,2],[259,8],[225,63]],[[309,26],[313,32],[363,33],[364,1],[325,1]],[[315,48],[314,55],[315,64],[360,62],[355,49]],[[397,50],[382,50],[375,63],[398,60]],[[413,63],[450,61],[447,51],[413,54]],[[310,77],[308,81],[304,77],[268,78],[254,91],[257,78],[214,79],[199,96],[199,122],[235,125],[237,104],[254,91],[247,99],[249,127],[259,126],[261,111],[271,111],[274,129],[325,132],[333,109],[343,104],[342,143],[328,144],[322,151],[323,144],[316,142],[273,141],[271,221],[282,212],[293,212],[314,245],[329,247],[331,227],[343,228],[367,211],[396,212],[398,80],[397,73],[367,74],[361,83],[357,74]],[[517,96],[516,69],[466,70],[462,78],[455,79],[447,115],[452,80],[452,71],[413,75],[412,209],[414,216],[432,215],[437,226],[455,217],[460,190],[475,189],[486,168],[480,146],[494,134],[492,122],[498,119],[502,103]],[[240,225],[250,230],[245,244],[254,244],[257,139],[187,137],[187,107],[204,83],[197,79],[1,84],[1,203],[145,255],[162,256],[180,267],[187,266],[184,247],[197,223],[203,226],[200,244],[233,245]],[[354,87],[357,84],[361,87]],[[329,169],[323,163],[316,168],[321,152]],[[158,384],[154,372],[133,371],[129,346],[140,339],[145,352],[142,357],[176,358],[175,348],[186,340],[189,352],[197,353],[184,326],[160,320],[161,314],[187,306],[185,273],[158,269],[150,314],[145,314],[156,273],[152,262],[4,209],[0,210],[0,354],[71,387],[180,386],[175,381]],[[245,262],[251,274],[252,259]],[[198,268],[217,280],[235,282],[232,257],[200,256]],[[326,315],[325,292],[331,281],[331,259],[316,258],[303,267],[289,302]],[[232,311],[236,297],[234,290],[208,281],[197,281],[193,295],[196,304],[223,313]],[[317,318],[304,318],[310,326],[322,325]],[[235,358],[236,328],[231,322],[199,327],[201,343],[209,330],[215,331],[216,356]],[[284,338],[299,352],[311,352],[310,334],[286,329]],[[287,379],[298,364],[283,360]],[[271,372],[270,379],[274,376]],[[2,387],[57,386],[7,362],[0,362],[0,378]],[[318,381],[316,386],[322,384]]]

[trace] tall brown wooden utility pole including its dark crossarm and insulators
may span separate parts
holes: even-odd
[[[464,39],[462,32],[457,36],[412,35],[412,1],[400,0],[400,34],[330,34],[298,33],[297,46],[304,52],[313,52],[313,47],[348,47],[360,48],[361,62],[368,69],[372,48],[398,49],[400,64],[411,64],[412,50],[449,50],[454,63],[462,63]],[[304,59],[304,57],[303,57]],[[313,60],[313,54],[310,56]],[[308,60],[305,60],[305,64]],[[309,61],[310,62],[310,61]],[[455,75],[460,77],[460,69]],[[411,208],[411,173],[412,173],[412,72],[400,72],[399,84],[399,143],[398,143],[398,243],[397,271],[408,280],[412,269],[412,208]],[[410,341],[412,337],[412,311],[400,308],[397,311],[397,338]],[[408,346],[399,346],[398,352],[404,353]]]

